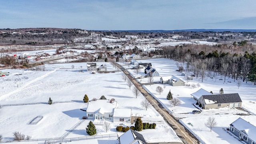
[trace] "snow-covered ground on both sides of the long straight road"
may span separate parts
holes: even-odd
[[[176,62],[170,59],[158,58],[148,60],[138,60],[139,62],[151,62],[152,66],[160,73],[160,76],[174,75],[187,82],[181,73],[176,71]],[[107,64],[108,70],[115,70],[109,63],[98,62],[97,65]],[[121,65],[125,63],[120,62]],[[71,65],[75,68],[72,69]],[[106,98],[115,98],[119,103],[119,108],[132,108],[132,116],[142,116],[143,122],[156,122],[155,130],[142,130],[147,142],[180,142],[178,136],[174,133],[172,128],[164,122],[162,116],[153,108],[144,110],[140,106],[141,100],[144,97],[140,95],[137,99],[132,94],[132,90],[121,79],[122,72],[108,73],[108,74],[91,74],[86,70],[81,71],[86,67],[86,63],[72,63],[72,64],[46,64],[47,71],[27,71],[21,69],[7,69],[2,72],[10,72],[9,76],[0,78],[0,104],[20,104],[20,103],[34,103],[47,102],[49,97],[53,102],[58,101],[74,101],[67,103],[48,104],[34,104],[24,106],[3,106],[0,108],[0,134],[3,135],[3,140],[12,140],[12,132],[19,131],[22,134],[36,138],[53,138],[64,135],[72,126],[80,122],[84,112],[80,110],[86,108],[87,104],[82,102],[84,94],[87,94],[89,100],[92,98],[100,98],[104,95]],[[128,68],[127,65],[124,67]],[[132,66],[130,66],[131,68]],[[184,65],[184,67],[186,67]],[[132,69],[128,70],[135,78],[144,76],[144,70],[136,74]],[[15,75],[22,74],[22,75]],[[220,78],[220,77],[219,77]],[[141,83],[147,83],[147,78],[138,79]],[[154,82],[158,82],[160,77],[154,77]],[[243,118],[251,124],[256,125],[256,97],[254,96],[256,89],[251,82],[242,83],[240,88],[232,79],[216,80],[205,78],[189,80],[188,84],[200,84],[200,87],[192,88],[191,86],[177,86],[173,87],[168,84],[152,84],[144,85],[146,89],[158,99],[164,107],[166,107],[174,116],[182,122],[203,144],[240,144],[236,138],[230,136],[225,130],[229,128],[229,124],[234,122],[237,118]],[[156,86],[166,86],[164,92],[158,94]],[[207,91],[212,91],[218,94],[220,88],[224,89],[224,94],[238,93],[242,99],[242,108],[249,111],[245,112],[235,108],[220,108],[202,110],[200,114],[192,114],[192,110],[196,108],[192,105],[195,103],[191,99],[190,94],[196,92],[200,88]],[[169,90],[174,97],[182,100],[179,106],[170,106],[166,96]],[[241,116],[238,114],[247,114]],[[29,122],[36,116],[44,116],[38,124],[31,125]],[[207,118],[212,116],[216,118],[218,125],[212,129],[204,126]],[[86,126],[89,120],[84,121],[66,138],[76,138],[87,136]],[[190,123],[190,124],[188,124]],[[191,125],[192,124],[192,125]],[[119,124],[112,124],[111,129],[105,132],[102,126],[96,126],[97,135],[114,134],[116,133],[116,126]],[[125,125],[126,126],[126,125]],[[127,124],[127,126],[131,126]],[[40,133],[40,134],[39,134]],[[120,136],[122,132],[118,132]],[[80,144],[78,141],[70,142],[70,144]],[[112,144],[116,141],[113,139],[98,139],[91,140],[92,144]]]

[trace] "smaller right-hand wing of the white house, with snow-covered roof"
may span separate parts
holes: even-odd
[[[113,115],[113,122],[130,123],[132,116],[132,109],[130,108],[115,108]]]

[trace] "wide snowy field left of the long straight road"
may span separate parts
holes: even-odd
[[[97,63],[97,65],[102,64],[106,64],[109,71],[115,70],[108,62]],[[74,69],[71,68],[72,65],[75,66]],[[16,131],[31,136],[32,139],[64,136],[85,115],[85,112],[80,109],[87,107],[87,103],[82,101],[87,94],[89,100],[99,99],[102,95],[107,99],[114,98],[118,101],[119,108],[132,108],[132,116],[141,116],[143,122],[155,122],[156,129],[140,132],[147,142],[181,142],[174,130],[166,124],[154,108],[144,110],[140,106],[144,97],[140,95],[136,98],[132,94],[132,90],[121,79],[122,72],[92,74],[87,72],[86,63],[46,64],[45,66],[46,71],[1,70],[10,72],[10,75],[0,78],[0,104],[47,103],[49,97],[53,102],[65,101],[66,103],[1,106],[0,134],[4,137],[3,140],[12,140],[12,133]],[[43,118],[37,124],[29,124],[36,116],[43,116]],[[86,126],[89,121],[90,119],[87,119],[82,122],[66,138],[88,136]],[[112,123],[108,132],[102,126],[96,126],[96,135],[116,133],[119,136],[122,135],[123,132],[116,132],[116,126],[119,126],[119,123]],[[124,124],[124,126],[134,126],[134,124]],[[98,139],[91,140],[90,143],[112,144],[116,143],[116,140]]]

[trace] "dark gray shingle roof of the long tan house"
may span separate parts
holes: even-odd
[[[216,101],[217,104],[242,102],[238,93],[235,93],[235,94],[211,94],[211,95],[203,95],[202,97],[204,99]]]

